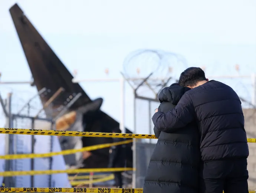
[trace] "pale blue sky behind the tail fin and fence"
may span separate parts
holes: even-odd
[[[31,77],[9,14],[16,2],[66,67],[78,70],[78,78],[106,77],[106,67],[108,77],[120,77],[125,56],[145,48],[181,54],[188,66],[206,66],[208,76],[236,74],[235,64],[240,74],[256,73],[255,0],[1,0],[1,81]],[[250,97],[250,80],[220,81]],[[81,85],[90,97],[104,97],[102,110],[120,119],[118,83]],[[125,125],[133,129],[132,90],[126,88]],[[3,97],[10,90],[24,100],[35,93],[29,86],[0,85]],[[148,133],[147,116],[147,103],[140,102],[138,133]]]

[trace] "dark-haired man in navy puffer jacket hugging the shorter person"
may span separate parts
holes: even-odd
[[[248,193],[249,148],[241,101],[226,84],[206,79],[190,67],[180,85],[191,88],[167,113],[156,110],[152,121],[158,131],[174,133],[196,121],[200,133],[202,193]]]

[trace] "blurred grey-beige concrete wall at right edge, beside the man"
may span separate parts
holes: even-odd
[[[243,109],[247,138],[256,138],[256,109]],[[256,143],[248,143],[249,190],[256,190]]]

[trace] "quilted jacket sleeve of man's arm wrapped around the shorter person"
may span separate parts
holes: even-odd
[[[195,110],[189,94],[185,93],[177,106],[167,113],[157,112],[152,121],[159,131],[173,133],[177,129],[186,126],[195,118]]]

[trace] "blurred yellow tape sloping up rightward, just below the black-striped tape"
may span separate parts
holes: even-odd
[[[8,154],[4,156],[0,156],[0,159],[28,159],[28,158],[41,158],[41,157],[52,157],[52,156],[58,156],[58,155],[68,155],[68,154],[73,154],[77,152],[84,152],[84,151],[92,151],[96,149],[103,149],[106,147],[111,147],[111,146],[118,146],[122,144],[127,144],[131,143],[131,140],[125,140],[122,142],[115,142],[115,143],[105,143],[105,144],[98,144],[94,146],[88,146],[88,147],[83,147],[81,149],[69,149],[69,150],[62,150],[61,152],[49,152],[49,153],[31,153],[31,154]]]

